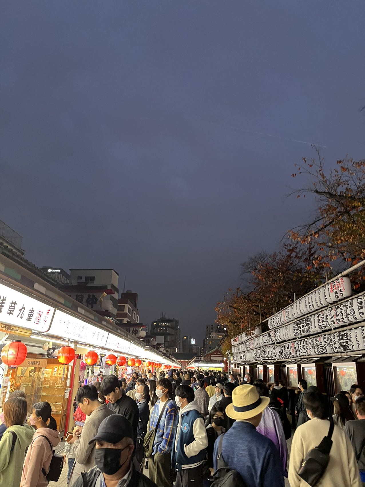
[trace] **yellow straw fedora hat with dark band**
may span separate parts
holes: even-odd
[[[269,402],[270,397],[260,397],[255,386],[243,384],[233,390],[226,414],[231,419],[250,419],[269,406]]]

